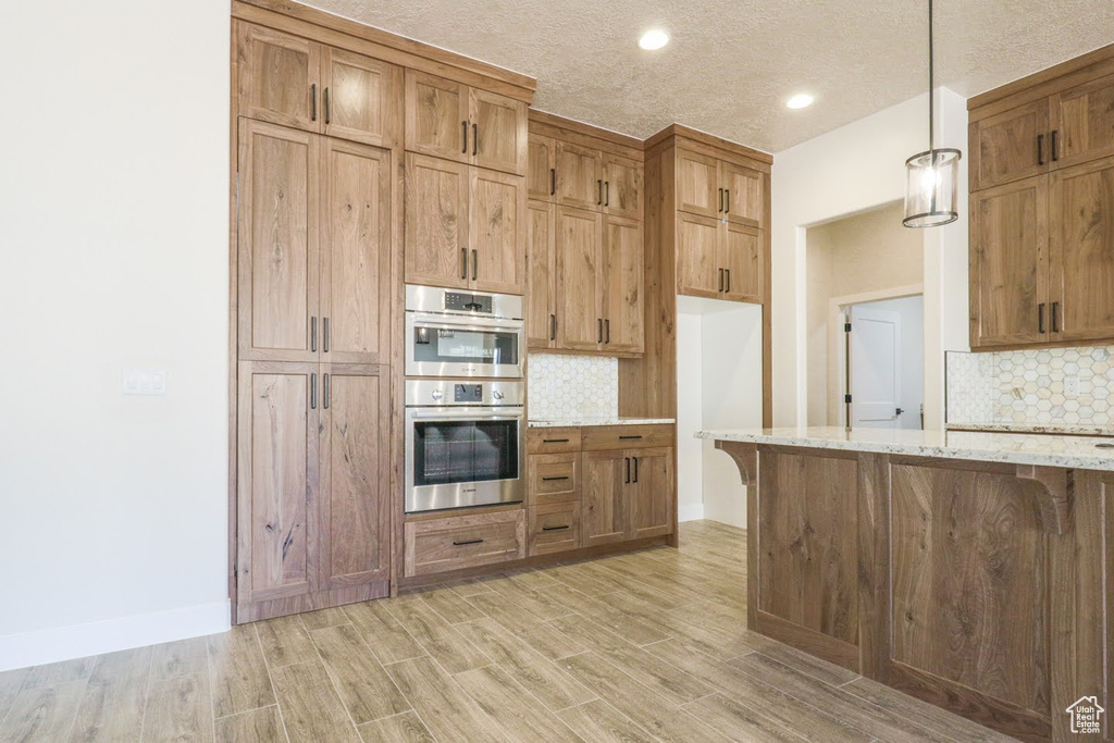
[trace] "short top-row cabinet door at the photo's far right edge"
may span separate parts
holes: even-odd
[[[1056,133],[1054,168],[1114,155],[1114,75],[1053,96],[1048,126]]]

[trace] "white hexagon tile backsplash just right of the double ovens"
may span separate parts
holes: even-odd
[[[532,353],[526,383],[531,420],[618,417],[618,359]]]

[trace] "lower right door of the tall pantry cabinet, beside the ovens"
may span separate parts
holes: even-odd
[[[388,580],[391,544],[389,366],[322,366],[322,589]]]

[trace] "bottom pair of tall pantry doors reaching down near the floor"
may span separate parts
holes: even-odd
[[[391,402],[381,369],[241,362],[240,620],[388,593]]]

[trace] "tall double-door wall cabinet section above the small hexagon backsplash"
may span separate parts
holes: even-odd
[[[642,223],[563,206],[555,219],[557,330],[547,348],[642,353]]]

